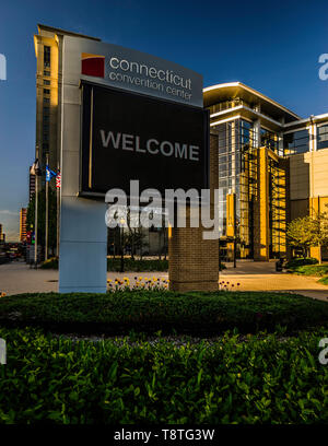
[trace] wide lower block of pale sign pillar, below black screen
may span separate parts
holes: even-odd
[[[106,204],[61,198],[59,293],[106,293]]]

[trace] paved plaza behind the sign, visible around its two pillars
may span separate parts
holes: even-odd
[[[134,282],[134,277],[167,279],[165,272],[108,272],[108,279],[128,277]],[[220,272],[219,281],[230,282],[229,287],[241,291],[288,291],[305,296],[328,300],[328,286],[317,283],[317,278],[279,273],[274,262],[238,261],[234,269],[227,263],[227,269]],[[237,283],[241,285],[237,286]],[[234,286],[232,287],[232,284]],[[0,293],[8,295],[20,293],[42,293],[58,291],[58,271],[30,269],[23,262],[0,265]]]

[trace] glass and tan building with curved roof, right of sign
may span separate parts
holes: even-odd
[[[234,244],[239,258],[285,256],[288,223],[328,204],[328,114],[301,119],[241,82],[209,86],[203,98],[218,138],[222,257]]]

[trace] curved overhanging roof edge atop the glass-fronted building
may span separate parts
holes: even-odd
[[[261,113],[272,117],[277,121],[281,120],[281,118],[284,118],[285,122],[301,119],[298,115],[289,110],[283,105],[242,82],[222,83],[203,89],[204,107],[230,101],[235,97],[244,99],[250,106],[260,105]]]

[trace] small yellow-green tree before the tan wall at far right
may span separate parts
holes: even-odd
[[[290,244],[302,248],[303,257],[306,258],[308,249],[313,244],[313,219],[309,215],[300,216],[288,225],[286,235]]]

